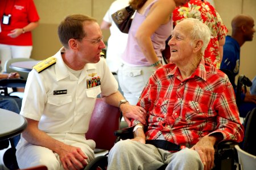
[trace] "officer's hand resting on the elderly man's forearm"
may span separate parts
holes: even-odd
[[[142,124],[146,124],[146,110],[142,107],[124,103],[120,105],[123,117],[129,126],[131,126],[131,118],[138,120]]]

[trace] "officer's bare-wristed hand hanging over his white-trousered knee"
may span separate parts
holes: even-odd
[[[60,161],[64,169],[82,169],[87,163],[88,157],[82,152],[81,148],[69,145],[63,145],[59,154]]]

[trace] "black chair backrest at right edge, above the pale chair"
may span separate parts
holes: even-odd
[[[242,150],[256,156],[256,108],[247,113],[243,126],[245,127],[245,137],[240,144]]]

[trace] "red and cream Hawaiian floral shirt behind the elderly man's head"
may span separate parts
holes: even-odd
[[[225,38],[228,29],[220,15],[207,1],[191,0],[184,6],[177,7],[173,13],[174,25],[185,18],[196,18],[207,24],[212,32],[210,42],[205,49],[205,62],[220,69],[221,58],[218,51],[218,40]]]

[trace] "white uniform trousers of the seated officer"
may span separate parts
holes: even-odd
[[[86,140],[84,134],[48,134],[67,145],[80,147],[88,157],[87,163],[94,158],[96,143],[93,140]],[[47,142],[47,141],[45,141]],[[63,169],[59,155],[46,147],[32,145],[24,138],[20,138],[16,146],[16,159],[20,169],[46,165],[48,169]]]

